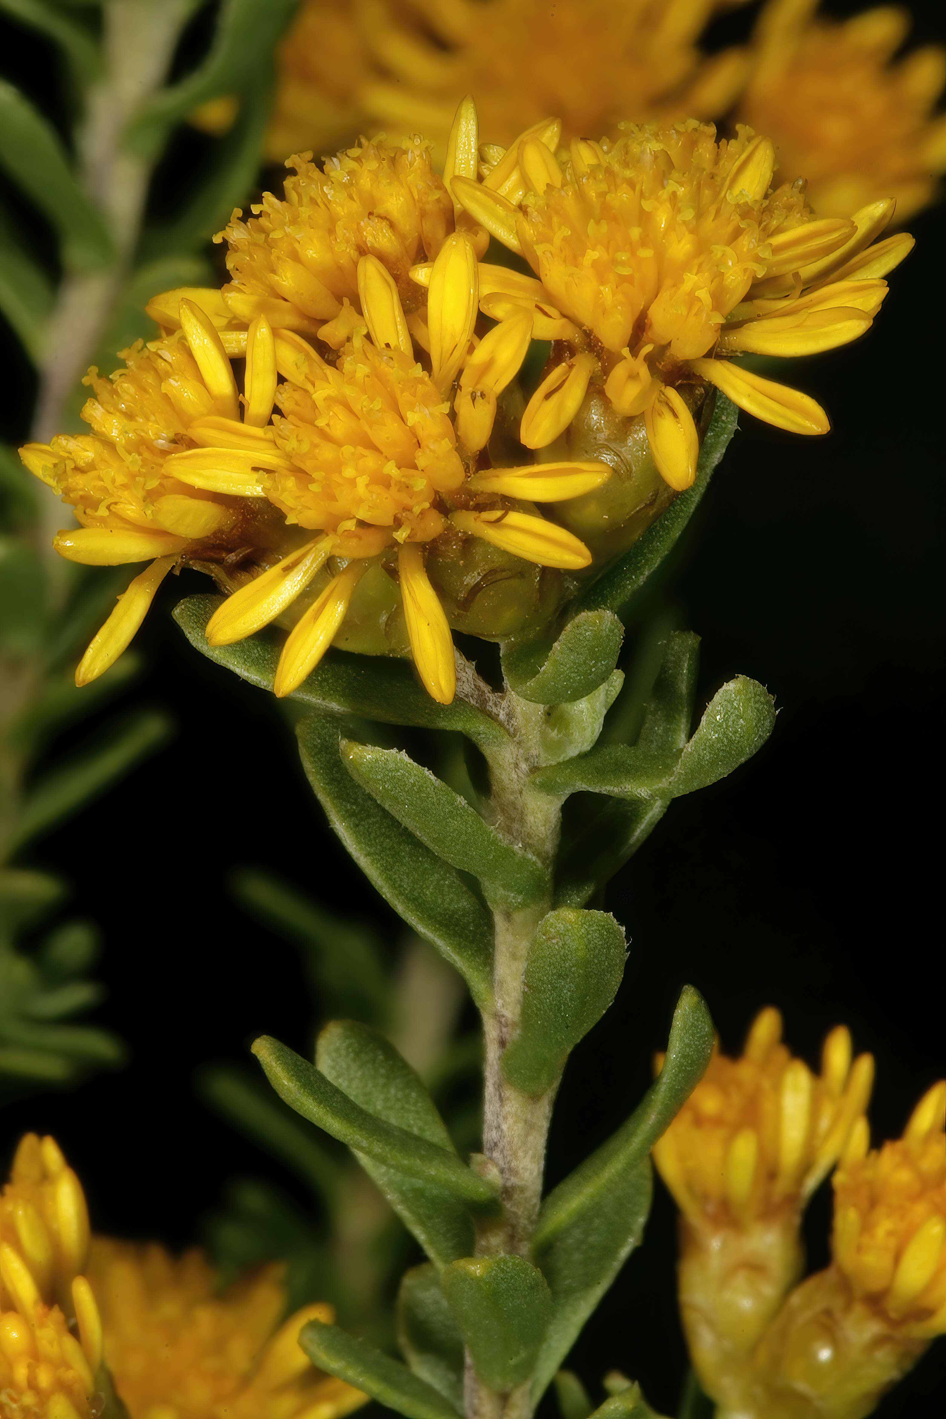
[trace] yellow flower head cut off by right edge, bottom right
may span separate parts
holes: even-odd
[[[834,1174],[835,1266],[854,1294],[916,1338],[946,1334],[946,1081],[903,1137],[868,1152],[858,1127]]]

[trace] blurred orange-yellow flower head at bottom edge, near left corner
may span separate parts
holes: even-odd
[[[105,1361],[130,1419],[340,1419],[366,1396],[313,1369],[301,1327],[330,1321],[306,1305],[279,1325],[278,1267],[223,1294],[200,1252],[96,1237],[89,1281],[102,1311]]]

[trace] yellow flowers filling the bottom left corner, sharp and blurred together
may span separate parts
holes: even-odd
[[[129,1419],[342,1419],[365,1403],[299,1348],[299,1328],[330,1321],[330,1307],[279,1324],[278,1267],[221,1296],[199,1252],[174,1259],[92,1237],[52,1138],[27,1134],[16,1152],[0,1195],[0,1277],[4,1415],[92,1419],[112,1388]]]

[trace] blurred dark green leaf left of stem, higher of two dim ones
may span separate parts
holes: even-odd
[[[383,1025],[390,986],[380,937],[366,922],[335,917],[271,873],[243,868],[231,878],[234,897],[257,921],[304,952],[319,1009]]]

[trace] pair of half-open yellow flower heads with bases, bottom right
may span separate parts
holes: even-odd
[[[946,1083],[871,1151],[871,1056],[840,1026],[816,1077],[780,1032],[763,1010],[739,1059],[713,1054],[654,1149],[681,1314],[720,1415],[862,1419],[946,1334]],[[833,1260],[801,1281],[801,1212],[835,1164]]]

